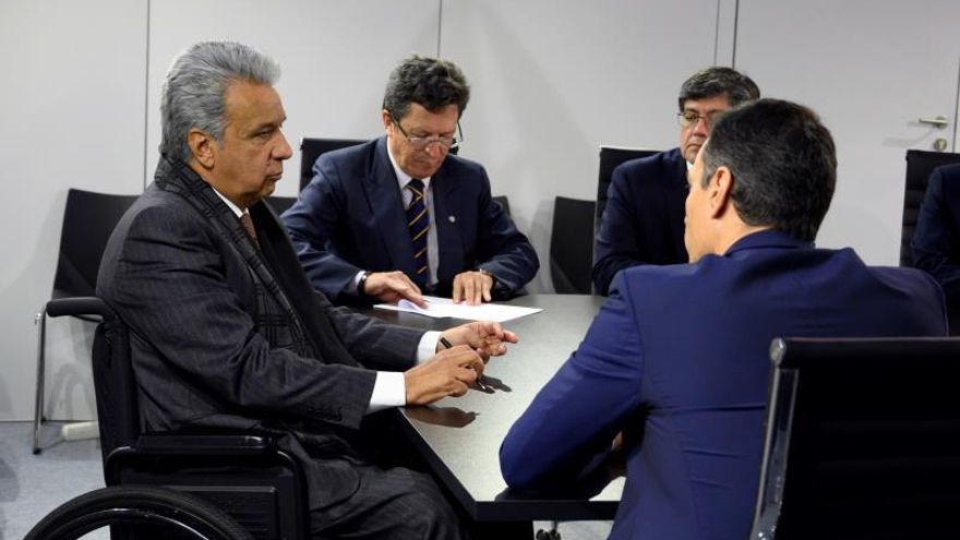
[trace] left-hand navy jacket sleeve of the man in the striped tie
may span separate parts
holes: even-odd
[[[344,179],[336,165],[321,156],[313,166],[313,180],[284,213],[284,225],[307,277],[316,290],[336,299],[353,281],[360,268],[332,249],[334,239],[349,236]],[[348,239],[347,242],[352,241]]]

